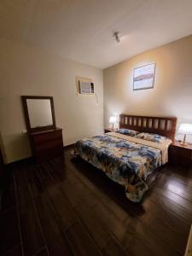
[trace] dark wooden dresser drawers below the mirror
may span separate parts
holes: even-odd
[[[28,132],[32,155],[35,160],[42,161],[63,153],[62,129]]]

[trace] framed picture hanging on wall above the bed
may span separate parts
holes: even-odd
[[[133,90],[154,88],[156,63],[151,63],[133,70]]]

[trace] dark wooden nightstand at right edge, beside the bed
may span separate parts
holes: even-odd
[[[169,147],[169,162],[182,167],[192,166],[192,144],[183,147],[175,141]]]

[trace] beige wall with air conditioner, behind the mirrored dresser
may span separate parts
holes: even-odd
[[[77,96],[76,76],[95,81],[96,96]],[[21,95],[54,96],[65,145],[103,131],[102,70],[61,59],[29,44],[0,40],[0,131],[7,162],[31,155]]]

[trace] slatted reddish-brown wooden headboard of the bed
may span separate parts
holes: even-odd
[[[177,118],[120,114],[119,128],[157,133],[175,140]]]

